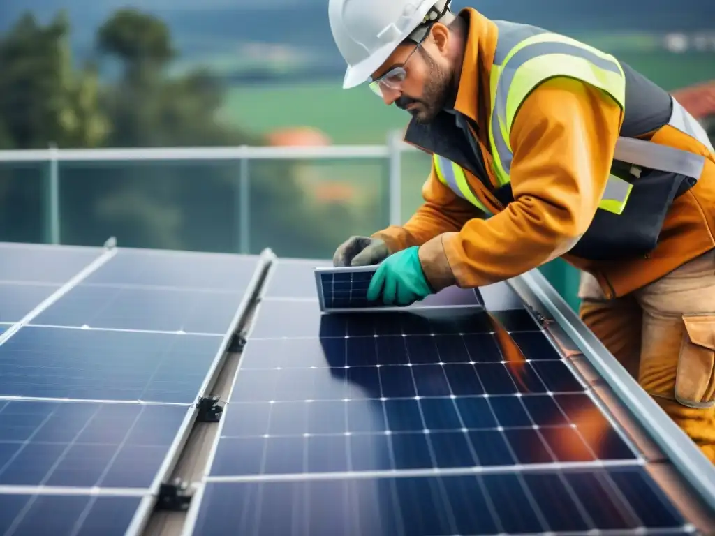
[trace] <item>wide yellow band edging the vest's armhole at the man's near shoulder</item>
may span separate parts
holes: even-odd
[[[601,69],[587,59],[570,54],[546,54],[526,61],[516,70],[506,98],[506,132],[511,131],[519,106],[534,87],[556,76],[568,76],[591,84],[605,91],[623,109],[626,101],[625,75],[619,64],[613,65],[619,70]],[[538,76],[534,76],[535,73]]]

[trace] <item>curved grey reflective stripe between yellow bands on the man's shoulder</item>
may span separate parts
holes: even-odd
[[[621,74],[618,64],[613,61],[603,59],[601,56],[581,48],[581,46],[566,43],[535,43],[524,46],[523,49],[511,56],[511,59],[506,62],[504,71],[499,76],[499,81],[496,86],[496,94],[494,97],[494,112],[491,118],[491,129],[494,135],[494,144],[499,153],[499,159],[501,160],[501,165],[506,174],[511,174],[511,159],[513,155],[508,148],[506,140],[503,139],[501,129],[499,128],[499,121],[501,120],[502,122],[506,122],[506,99],[509,94],[509,88],[514,80],[514,76],[516,76],[516,70],[519,67],[530,59],[548,54],[568,54],[569,56],[576,56],[590,61],[592,64],[596,65],[600,69],[603,69],[604,71]]]

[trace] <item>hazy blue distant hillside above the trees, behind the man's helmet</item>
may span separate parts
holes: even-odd
[[[386,0],[388,1],[388,0]],[[46,21],[59,9],[71,20],[72,48],[87,57],[94,31],[112,11],[136,6],[160,16],[172,29],[182,60],[189,64],[225,59],[225,74],[250,56],[252,66],[265,61],[261,44],[282,47],[284,61],[293,54],[324,74],[343,68],[330,35],[327,0],[0,0],[0,31],[26,9]],[[564,34],[623,31],[700,31],[715,29],[715,0],[473,0],[455,1],[453,8],[473,5],[493,19],[536,24]],[[253,46],[251,54],[247,46]],[[260,71],[260,66],[258,67]],[[257,75],[263,76],[260,72]]]

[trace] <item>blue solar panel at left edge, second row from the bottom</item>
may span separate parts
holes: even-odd
[[[0,485],[150,487],[186,415],[182,406],[0,402]]]

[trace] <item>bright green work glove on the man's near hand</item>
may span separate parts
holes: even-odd
[[[368,300],[375,302],[381,296],[385,305],[405,307],[432,294],[418,250],[408,247],[385,259],[370,281]]]

